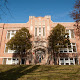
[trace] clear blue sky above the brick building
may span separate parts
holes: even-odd
[[[2,4],[2,2],[0,3]],[[7,7],[2,5],[0,23],[26,23],[29,16],[50,15],[53,22],[74,22],[70,12],[75,0],[8,0]]]

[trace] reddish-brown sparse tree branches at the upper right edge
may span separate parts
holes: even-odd
[[[71,12],[70,16],[75,20],[74,26],[77,30],[77,35],[80,37],[80,0],[76,0],[74,4],[74,10]]]

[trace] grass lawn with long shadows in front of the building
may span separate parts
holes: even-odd
[[[80,66],[0,65],[0,80],[80,80]]]

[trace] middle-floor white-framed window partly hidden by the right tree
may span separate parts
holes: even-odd
[[[67,48],[60,48],[60,53],[76,53],[76,43],[71,43]]]

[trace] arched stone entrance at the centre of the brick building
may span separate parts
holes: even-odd
[[[33,49],[33,58],[35,64],[46,64],[47,62],[47,48],[38,46]]]

